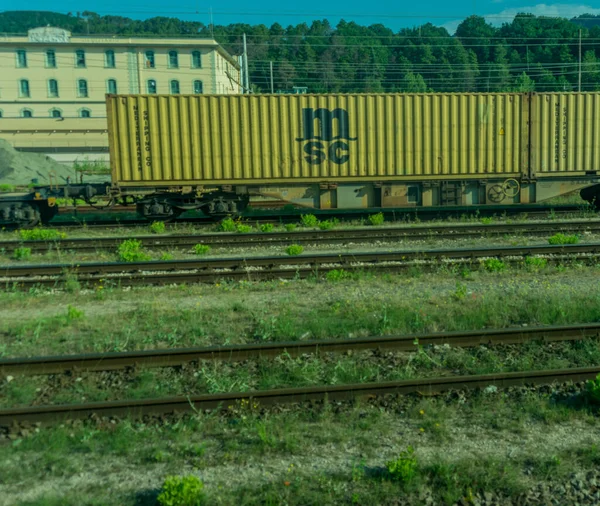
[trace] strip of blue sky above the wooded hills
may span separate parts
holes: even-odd
[[[12,10],[17,7],[12,0],[0,0],[0,8]],[[4,5],[2,5],[4,4]],[[47,0],[29,0],[27,9],[48,10]],[[164,0],[56,0],[52,10],[57,12],[77,12],[90,10],[99,14],[115,14],[131,18],[148,18],[153,16],[172,16],[188,20],[198,20],[208,24],[209,12],[212,9],[215,24],[229,23],[263,23],[267,26],[278,22],[283,26],[313,19],[327,18],[336,24],[340,19],[356,21],[359,24],[382,23],[393,30],[406,26],[432,22],[445,26],[452,33],[460,20],[470,14],[486,16],[488,21],[500,25],[510,21],[518,12],[531,12],[536,15],[573,17],[579,14],[600,14],[597,1],[582,3],[535,3],[527,0],[424,0],[404,3],[378,2],[369,4],[358,0],[304,0],[303,2],[285,4],[280,0],[260,0],[247,2],[229,0],[228,2],[194,2],[169,4]],[[595,7],[594,7],[595,5]]]

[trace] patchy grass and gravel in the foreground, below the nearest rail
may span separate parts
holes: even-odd
[[[0,454],[0,491],[7,504],[150,505],[166,476],[191,474],[207,504],[505,504],[600,464],[594,408],[569,400],[575,387],[545,391],[23,431]],[[387,465],[408,447],[410,479]]]

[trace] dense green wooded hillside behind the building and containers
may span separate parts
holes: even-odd
[[[600,90],[600,16],[571,20],[519,14],[495,27],[471,16],[450,35],[427,23],[398,32],[381,25],[327,20],[283,27],[199,22],[155,17],[133,20],[93,12],[5,12],[0,31],[24,33],[58,26],[74,34],[212,37],[232,54],[248,42],[250,81],[270,90],[309,92],[495,92]]]

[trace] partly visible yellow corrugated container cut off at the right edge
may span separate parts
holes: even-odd
[[[600,170],[600,93],[536,93],[531,103],[532,176]]]

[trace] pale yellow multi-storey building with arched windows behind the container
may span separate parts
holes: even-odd
[[[0,68],[2,119],[105,118],[108,93],[241,92],[236,58],[213,39],[73,37],[36,28],[0,36]]]

